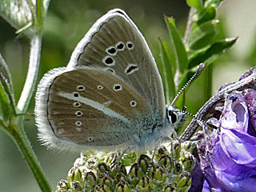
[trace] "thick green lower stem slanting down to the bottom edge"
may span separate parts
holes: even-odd
[[[6,130],[10,134],[11,138],[14,139],[14,142],[18,146],[18,150],[20,150],[23,158],[25,158],[40,189],[43,192],[52,191],[49,183],[46,181],[46,176],[42,171],[38,158],[36,157],[36,154],[34,154],[34,150],[30,146],[30,142],[26,137],[26,133],[23,128],[23,118],[12,118],[9,127],[7,127]]]

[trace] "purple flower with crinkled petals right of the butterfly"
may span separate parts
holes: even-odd
[[[192,175],[192,191],[256,191],[256,91],[246,89],[226,97],[219,130],[198,142],[198,161],[205,181]],[[199,165],[199,164],[198,164]],[[198,176],[197,176],[198,177]],[[202,179],[201,179],[202,180]],[[197,188],[198,187],[198,188]],[[202,190],[195,190],[202,187]]]

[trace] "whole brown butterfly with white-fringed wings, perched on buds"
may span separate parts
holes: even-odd
[[[77,151],[150,150],[185,118],[166,106],[149,46],[119,9],[95,22],[66,67],[45,74],[35,115],[43,144]]]

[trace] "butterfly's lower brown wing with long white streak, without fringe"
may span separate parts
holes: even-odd
[[[82,80],[81,80],[82,78]],[[98,70],[72,70],[49,87],[47,118],[56,137],[86,146],[129,142],[152,122],[146,100],[121,79]]]

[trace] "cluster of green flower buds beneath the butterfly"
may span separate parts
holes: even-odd
[[[58,182],[56,191],[186,192],[191,184],[190,173],[187,171],[194,166],[194,157],[190,153],[193,145],[186,143],[189,150],[187,151],[184,150],[183,144],[173,144],[173,153],[166,150],[171,150],[170,143],[159,147],[153,165],[150,165],[151,158],[146,154],[124,154],[122,160],[116,162],[114,167],[110,166],[110,163],[113,165],[118,159],[114,154],[82,154],[70,169],[67,181]],[[153,152],[148,154],[153,155]],[[148,167],[150,171],[147,174]]]

